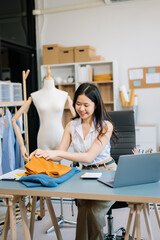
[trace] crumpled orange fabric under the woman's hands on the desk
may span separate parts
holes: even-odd
[[[69,166],[57,164],[50,160],[47,161],[42,157],[36,158],[35,156],[25,165],[25,168],[25,176],[41,173],[51,177],[60,177],[72,169]]]

